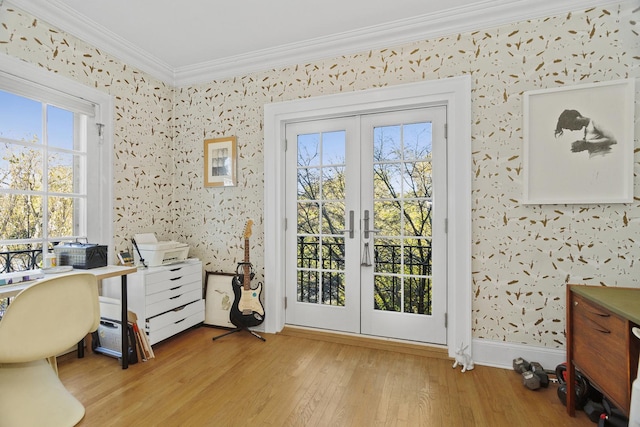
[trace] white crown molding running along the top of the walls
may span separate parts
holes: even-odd
[[[167,84],[182,87],[285,65],[491,28],[510,22],[633,1],[486,0],[471,7],[452,8],[440,13],[421,15],[176,69],[172,69],[168,64],[88,20],[85,16],[79,15],[60,1],[49,0],[43,6],[34,5],[29,0],[9,0],[7,3],[118,57],[131,66],[148,72]]]

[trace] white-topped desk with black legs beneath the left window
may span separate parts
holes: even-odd
[[[122,311],[120,313],[122,322],[122,369],[127,369],[129,367],[129,358],[125,357],[126,349],[129,345],[129,340],[127,339],[127,274],[135,273],[138,271],[137,267],[129,267],[122,265],[107,265],[106,267],[98,267],[98,268],[90,268],[87,270],[73,270],[75,273],[91,273],[98,280],[107,279],[109,277],[120,277],[120,286],[122,290],[122,298],[120,300],[120,307]],[[74,274],[70,273],[60,273],[55,276],[61,276],[65,274]],[[53,277],[52,275],[51,277]],[[46,278],[46,276],[45,276]],[[43,279],[42,279],[43,280]],[[15,285],[3,285],[0,286],[0,298],[11,298],[20,293],[24,288],[33,284],[34,282],[22,282],[17,283]],[[84,351],[84,350],[83,350]],[[82,352],[79,347],[79,356],[82,357]]]

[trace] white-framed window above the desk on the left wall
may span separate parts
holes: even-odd
[[[8,62],[0,66],[1,272],[41,267],[60,241],[110,244],[113,234],[110,97]]]

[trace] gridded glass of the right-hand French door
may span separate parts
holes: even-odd
[[[431,123],[376,127],[374,306],[431,314]]]

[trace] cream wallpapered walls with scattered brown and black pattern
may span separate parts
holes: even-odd
[[[265,103],[471,74],[474,337],[562,348],[566,283],[640,287],[637,107],[633,203],[521,204],[523,92],[640,77],[631,2],[175,90],[32,16],[0,13],[2,51],[116,97],[118,249],[155,231],[189,242],[206,269],[232,271],[251,218],[261,280]],[[203,140],[229,135],[238,185],[204,188]]]

